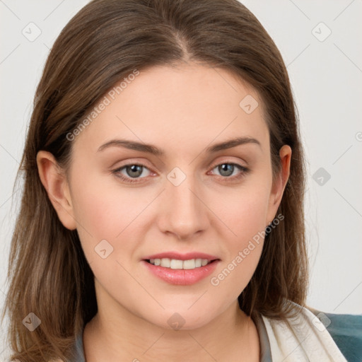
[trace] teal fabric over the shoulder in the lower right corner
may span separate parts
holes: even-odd
[[[347,361],[362,361],[362,315],[334,314],[309,308],[325,326]]]

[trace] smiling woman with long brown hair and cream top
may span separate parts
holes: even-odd
[[[357,334],[341,341],[348,316],[305,305],[298,119],[281,54],[245,6],[91,1],[35,99],[12,361],[361,358]]]

